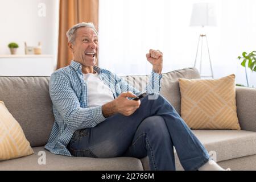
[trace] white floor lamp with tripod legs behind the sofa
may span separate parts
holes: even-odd
[[[216,26],[216,16],[214,15],[214,5],[212,3],[195,3],[193,4],[192,14],[191,14],[191,21],[190,26]],[[203,39],[206,40],[206,46],[208,51],[208,57],[209,57],[209,64],[210,64],[210,72],[211,75],[209,76],[202,76],[202,54],[203,54]],[[212,77],[213,76],[213,69],[212,69],[212,61],[210,60],[210,51],[208,46],[208,40],[206,34],[200,34],[199,39],[197,42],[197,49],[196,49],[196,59],[194,62],[194,68],[196,67],[197,62],[197,55],[199,53],[199,43],[201,40],[201,51],[200,51],[200,68],[199,72],[201,77]]]

